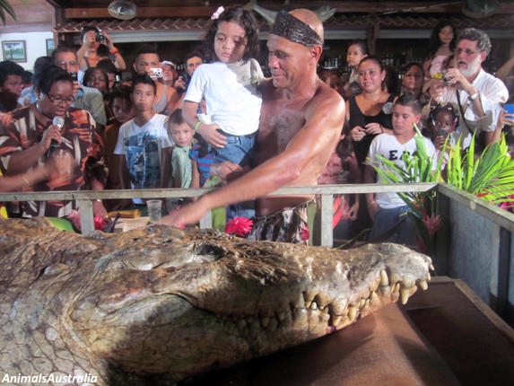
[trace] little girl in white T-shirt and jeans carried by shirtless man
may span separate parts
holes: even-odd
[[[250,165],[262,100],[257,84],[264,78],[253,57],[258,53],[257,21],[251,11],[241,7],[213,14],[213,22],[203,45],[206,57],[214,62],[198,66],[183,105],[183,117],[189,126],[211,146],[214,162]],[[198,103],[205,98],[208,120],[200,120]],[[206,122],[211,123],[206,123]],[[253,205],[231,206],[228,218],[251,217]]]

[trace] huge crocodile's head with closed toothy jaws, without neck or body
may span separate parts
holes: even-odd
[[[164,225],[69,235],[47,250],[30,298],[91,363],[176,381],[343,329],[430,278],[431,260],[396,244],[333,250]],[[72,261],[77,240],[89,247]]]

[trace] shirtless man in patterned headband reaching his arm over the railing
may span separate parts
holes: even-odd
[[[195,224],[214,207],[257,197],[249,238],[304,240],[299,233],[306,227],[312,196],[265,196],[284,186],[317,185],[341,136],[344,101],[316,73],[322,45],[323,25],[316,13],[298,9],[277,15],[267,40],[272,78],[262,84],[257,167],[164,217],[162,223]],[[263,231],[277,226],[280,232],[274,237]]]

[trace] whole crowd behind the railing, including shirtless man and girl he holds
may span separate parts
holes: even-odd
[[[213,15],[186,73],[140,46],[132,76],[109,34],[88,26],[81,47],[57,47],[30,76],[0,63],[0,191],[74,189],[219,189],[198,199],[167,200],[163,224],[196,224],[213,208],[224,221],[252,218],[247,237],[307,242],[316,197],[266,196],[286,185],[377,182],[370,160],[401,165],[416,150],[414,124],[430,154],[447,141],[483,146],[505,133],[503,110],[514,60],[486,72],[491,41],[484,31],[434,29],[424,63],[405,66],[401,86],[365,42],[347,48],[347,77],[320,73],[323,25],[315,13],[278,13],[266,42],[271,77],[257,62],[254,15],[234,7]],[[514,126],[512,126],[514,127]],[[447,139],[448,138],[448,139]],[[438,153],[439,152],[439,153]],[[379,237],[408,210],[396,194],[335,197],[335,235],[370,229]],[[94,201],[95,215],[141,208],[144,200]],[[74,201],[9,203],[11,216],[64,217]],[[408,223],[390,240],[412,244]]]

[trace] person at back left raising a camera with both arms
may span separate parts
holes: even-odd
[[[110,59],[118,70],[123,71],[126,69],[125,60],[119,53],[118,48],[114,47],[112,39],[110,39],[107,32],[103,32],[93,25],[86,25],[81,30],[81,42],[82,46],[77,51],[81,71],[85,71],[89,67],[96,66],[100,61],[100,57],[97,52],[100,44],[104,44],[109,48]]]

